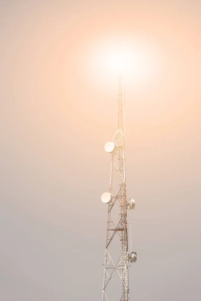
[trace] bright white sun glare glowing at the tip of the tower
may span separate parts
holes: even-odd
[[[159,67],[158,55],[153,45],[142,41],[132,43],[103,43],[94,50],[93,67],[105,77],[120,74],[128,81],[142,83],[154,75]]]

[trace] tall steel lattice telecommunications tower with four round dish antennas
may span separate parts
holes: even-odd
[[[128,251],[127,209],[134,209],[135,200],[126,199],[125,167],[125,103],[122,97],[122,76],[119,77],[118,129],[105,150],[111,153],[109,192],[101,200],[108,204],[106,253],[102,301],[129,301],[129,262],[136,262],[136,252]]]

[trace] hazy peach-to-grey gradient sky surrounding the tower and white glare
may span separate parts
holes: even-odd
[[[0,2],[1,300],[102,297],[117,78],[91,58],[119,37],[160,58],[126,86],[130,300],[201,297],[201,2],[11,0]]]

